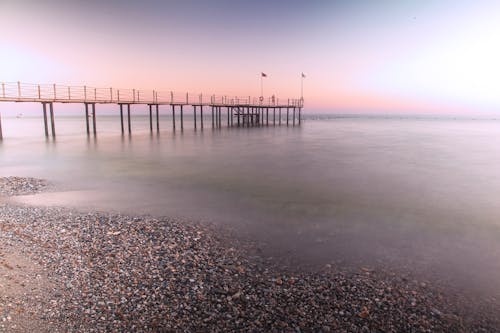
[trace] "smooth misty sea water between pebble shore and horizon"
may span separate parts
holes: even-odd
[[[411,270],[484,294],[500,290],[500,121],[334,118],[300,127],[150,135],[134,117],[3,119],[0,175],[64,191],[25,200],[208,220],[300,265]],[[224,118],[223,118],[224,120]]]

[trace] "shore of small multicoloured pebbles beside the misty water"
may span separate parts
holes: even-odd
[[[0,196],[46,186],[0,178]],[[331,265],[291,272],[256,244],[189,221],[4,203],[0,244],[4,280],[25,276],[18,295],[0,279],[0,331],[500,330],[494,312],[472,313],[428,282]]]

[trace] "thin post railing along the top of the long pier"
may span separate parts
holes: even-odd
[[[0,101],[303,107],[302,99],[2,82]]]

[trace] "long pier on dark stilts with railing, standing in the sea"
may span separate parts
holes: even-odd
[[[218,95],[203,95],[189,93],[174,93],[172,91],[136,90],[95,88],[88,86],[62,86],[28,84],[21,82],[2,82],[0,87],[0,102],[36,102],[41,103],[44,121],[45,136],[56,137],[55,130],[55,103],[83,104],[85,110],[87,135],[97,135],[96,104],[115,104],[120,113],[121,132],[132,133],[131,106],[147,105],[149,108],[149,129],[151,132],[160,131],[160,107],[163,112],[171,112],[172,128],[176,129],[179,116],[180,130],[184,130],[184,111],[191,108],[193,111],[194,129],[204,128],[203,111],[211,112],[211,127],[257,127],[295,126],[302,122],[303,99],[229,97]],[[82,110],[82,112],[83,112]],[[124,126],[124,111],[127,112],[127,128]],[[154,111],[154,117],[153,117]],[[199,111],[199,112],[197,112]],[[91,112],[91,114],[89,114]],[[286,112],[285,119],[282,113]],[[50,117],[50,126],[49,119]],[[198,116],[199,115],[199,125]],[[226,118],[226,119],[223,119]],[[92,126],[90,126],[92,120]],[[155,125],[155,126],[153,126]],[[49,131],[50,127],[50,131]],[[91,131],[92,130],[92,131]],[[0,140],[2,140],[2,119],[0,116]]]

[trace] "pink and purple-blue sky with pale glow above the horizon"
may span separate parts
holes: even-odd
[[[0,81],[500,113],[500,1],[0,0]]]

